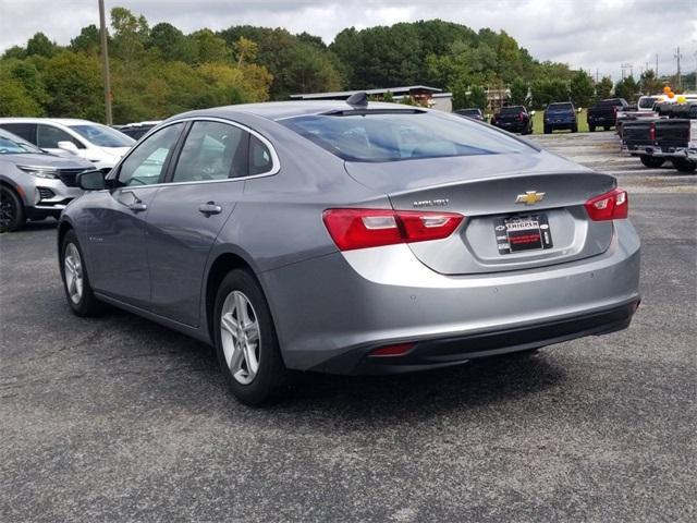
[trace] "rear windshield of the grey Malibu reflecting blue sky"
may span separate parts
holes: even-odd
[[[437,111],[310,114],[279,123],[348,161],[398,161],[530,150],[530,146],[499,131]]]

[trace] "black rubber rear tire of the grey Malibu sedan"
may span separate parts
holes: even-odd
[[[258,368],[248,384],[243,384],[235,378],[223,349],[221,316],[225,300],[232,295],[233,291],[242,293],[250,304],[252,308],[248,312],[254,315],[258,326],[259,342],[255,349],[255,354],[258,354]],[[242,269],[235,269],[228,273],[218,288],[213,314],[216,353],[230,392],[241,403],[252,406],[266,405],[288,396],[291,388],[291,374],[283,364],[269,305],[256,278]],[[247,358],[244,360],[246,362]]]

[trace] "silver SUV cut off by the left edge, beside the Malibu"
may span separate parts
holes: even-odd
[[[75,177],[93,169],[87,160],[50,155],[0,130],[0,232],[27,219],[58,218],[83,193]]]

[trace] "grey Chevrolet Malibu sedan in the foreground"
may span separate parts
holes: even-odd
[[[626,192],[510,134],[365,99],[154,129],[63,212],[68,303],[216,346],[259,404],[290,370],[401,373],[626,328]]]

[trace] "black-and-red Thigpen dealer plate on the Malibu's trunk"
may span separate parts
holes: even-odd
[[[493,232],[497,248],[502,255],[546,251],[554,246],[549,219],[543,212],[497,218]]]

